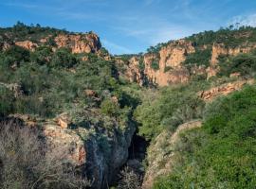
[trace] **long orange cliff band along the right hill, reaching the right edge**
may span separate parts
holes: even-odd
[[[196,45],[188,39],[178,40],[162,45],[156,52],[131,58],[127,63],[125,76],[140,85],[149,82],[158,86],[185,83],[195,75],[206,75],[209,79],[219,72],[220,56],[236,56],[240,53],[249,53],[255,48],[255,43],[239,43],[235,46],[228,46],[224,43]],[[189,68],[184,63],[190,55],[206,49],[211,51],[209,65],[193,62],[194,64]]]

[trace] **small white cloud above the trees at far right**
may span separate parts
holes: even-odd
[[[229,23],[229,25],[236,25],[239,24],[239,26],[256,26],[256,13],[249,14],[246,16],[235,16],[233,17]]]

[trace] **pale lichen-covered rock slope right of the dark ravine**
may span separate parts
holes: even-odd
[[[172,134],[168,131],[163,131],[155,138],[148,149],[148,168],[144,176],[142,188],[150,189],[153,187],[154,180],[157,177],[170,174],[174,164],[174,145],[181,132],[189,129],[200,128],[202,122],[200,120],[191,121],[180,125]]]

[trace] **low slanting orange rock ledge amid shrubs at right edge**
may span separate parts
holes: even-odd
[[[228,95],[234,91],[238,91],[242,89],[246,84],[253,84],[253,83],[254,83],[254,79],[229,82],[221,86],[211,88],[208,91],[200,92],[199,96],[205,101],[212,101],[217,96]]]

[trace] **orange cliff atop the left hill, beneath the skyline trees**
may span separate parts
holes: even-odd
[[[69,47],[72,53],[96,53],[101,48],[100,38],[95,33],[59,35],[54,40],[58,48]]]

